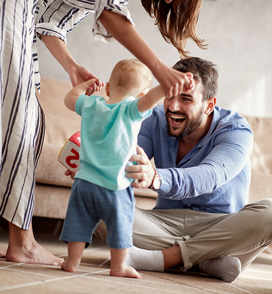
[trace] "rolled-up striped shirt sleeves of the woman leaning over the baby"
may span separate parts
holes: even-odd
[[[111,42],[115,39],[99,22],[104,9],[124,16],[134,25],[127,9],[128,0],[54,0],[36,24],[36,33],[60,38],[67,44],[66,35],[90,12],[95,13],[93,34],[96,40]]]

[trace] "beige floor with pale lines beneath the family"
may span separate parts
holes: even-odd
[[[39,222],[39,221],[38,221]],[[46,228],[33,224],[36,239],[56,256],[67,257],[67,245],[58,240],[60,222]],[[8,234],[0,231],[0,247],[6,248]],[[3,294],[272,294],[272,254],[262,253],[233,283],[224,283],[198,272],[141,271],[141,280],[109,275],[109,249],[95,239],[84,251],[75,273],[60,267],[16,264],[0,259],[0,293]]]

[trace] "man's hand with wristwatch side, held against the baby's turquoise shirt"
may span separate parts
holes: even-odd
[[[129,161],[137,161],[137,165],[126,166],[126,177],[138,179],[138,183],[131,183],[134,188],[148,188],[151,185],[155,171],[144,149],[137,145],[137,155],[130,157]]]

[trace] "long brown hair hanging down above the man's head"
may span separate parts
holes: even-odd
[[[188,39],[199,48],[206,49],[205,39],[197,35],[197,23],[203,0],[141,0],[149,16],[155,18],[155,25],[166,42],[172,43],[181,57],[189,57],[185,51]]]

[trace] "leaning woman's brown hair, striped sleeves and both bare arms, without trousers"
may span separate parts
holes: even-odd
[[[95,39],[120,42],[135,57],[148,66],[168,97],[176,96],[189,82],[183,73],[167,67],[153,52],[134,27],[126,8],[128,0],[54,0],[36,25],[36,32],[49,51],[69,73],[73,86],[94,75],[79,67],[67,50],[66,34],[90,12],[95,13],[93,33]],[[204,40],[198,38],[196,26],[202,0],[142,0],[148,14],[155,18],[155,25],[163,38],[186,57],[184,47],[189,38],[200,48]]]

